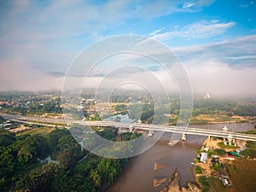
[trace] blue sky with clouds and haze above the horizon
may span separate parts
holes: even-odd
[[[256,96],[254,0],[10,0],[1,1],[0,24],[0,90],[61,90],[81,51],[128,34],[171,49],[194,93]],[[97,72],[111,73],[108,63]],[[102,79],[92,75],[90,85]]]

